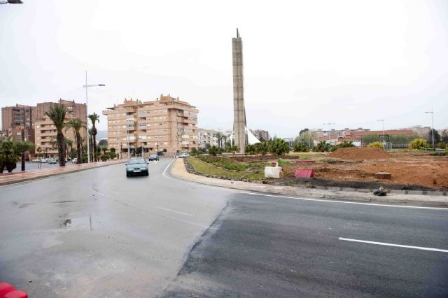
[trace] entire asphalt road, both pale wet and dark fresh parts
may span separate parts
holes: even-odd
[[[31,297],[448,296],[448,210],[219,189],[171,161],[0,187],[0,281]]]

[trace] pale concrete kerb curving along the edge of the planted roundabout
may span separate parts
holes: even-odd
[[[260,183],[248,183],[243,181],[222,180],[209,178],[193,173],[188,173],[182,159],[177,159],[170,170],[172,176],[191,182],[228,187],[236,190],[247,190],[252,192],[265,192],[269,194],[284,194],[296,197],[311,197],[319,199],[338,199],[343,201],[361,201],[371,203],[409,205],[409,206],[442,206],[448,208],[448,197],[443,195],[409,195],[391,192],[386,197],[374,196],[371,190],[356,190],[342,187],[326,187],[327,189],[307,188],[297,186],[265,185]],[[409,191],[410,193],[410,191]]]

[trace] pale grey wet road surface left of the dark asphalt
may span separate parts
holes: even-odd
[[[166,178],[172,160],[0,187],[0,281],[31,297],[159,295],[233,194]]]

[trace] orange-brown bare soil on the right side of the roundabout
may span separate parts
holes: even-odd
[[[283,166],[283,172],[286,177],[291,178],[294,176],[294,169],[314,169],[316,178],[328,181],[402,185],[400,189],[409,190],[448,190],[448,157],[413,152],[379,152],[380,149],[376,148],[365,149],[340,148],[329,155],[333,158],[321,159],[312,164],[286,164]],[[374,173],[377,172],[391,173],[392,178],[391,180],[374,178]],[[406,185],[409,187],[405,188]]]

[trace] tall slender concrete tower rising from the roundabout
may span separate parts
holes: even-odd
[[[244,108],[244,78],[243,78],[243,43],[237,29],[237,37],[232,38],[233,58],[233,133],[235,146],[244,153],[246,146],[246,110]]]

